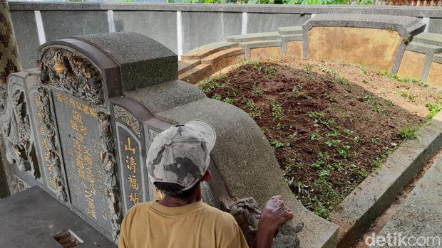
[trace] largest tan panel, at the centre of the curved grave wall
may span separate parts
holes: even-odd
[[[309,58],[343,60],[390,71],[402,38],[376,28],[314,27],[309,31]]]

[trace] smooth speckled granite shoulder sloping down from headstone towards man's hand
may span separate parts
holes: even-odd
[[[180,96],[183,92],[187,97]],[[182,81],[126,95],[165,122],[178,124],[191,119],[210,122],[217,131],[212,160],[233,197],[253,196],[263,205],[270,196],[283,195],[294,212],[294,221],[304,222],[304,230],[299,234],[302,247],[336,246],[337,226],[314,215],[294,197],[282,177],[272,147],[248,114],[233,105],[208,99],[197,87]]]

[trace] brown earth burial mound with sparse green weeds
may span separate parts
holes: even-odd
[[[324,218],[441,109],[418,80],[315,60],[248,61],[200,87],[255,119],[293,193]]]

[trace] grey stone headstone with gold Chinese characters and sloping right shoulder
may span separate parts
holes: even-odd
[[[252,197],[250,212],[283,195],[294,222],[304,222],[302,247],[336,246],[337,226],[294,197],[253,119],[178,80],[168,48],[138,33],[106,33],[45,43],[38,58],[37,69],[10,75],[0,92],[1,155],[16,191],[38,185],[116,243],[125,212],[153,200],[145,158],[155,135],[203,119],[217,131],[206,203],[232,210]],[[280,244],[302,229],[289,224]]]

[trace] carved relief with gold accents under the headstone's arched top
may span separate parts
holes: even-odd
[[[41,82],[75,97],[103,106],[103,77],[100,70],[80,53],[63,48],[48,48],[38,61]]]

